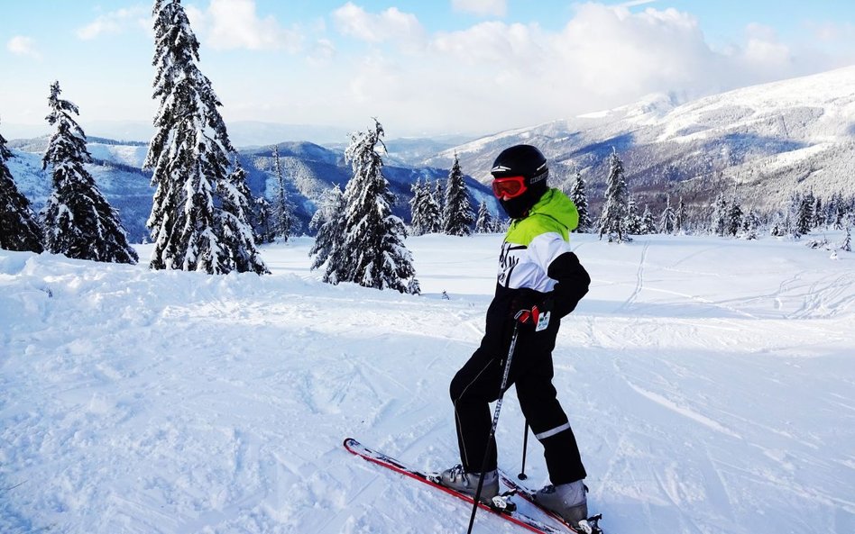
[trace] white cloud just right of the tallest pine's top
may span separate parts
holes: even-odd
[[[288,50],[302,45],[299,30],[285,29],[272,15],[260,18],[255,0],[211,0],[206,11],[186,8],[190,23],[205,44],[217,50]]]

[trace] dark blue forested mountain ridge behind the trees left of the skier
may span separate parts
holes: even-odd
[[[8,143],[14,158],[7,161],[7,165],[18,188],[31,200],[36,211],[41,210],[51,195],[51,176],[48,171],[41,169],[41,155],[47,141],[48,138],[43,136]],[[338,185],[344,190],[352,176],[351,167],[345,162],[342,150],[327,149],[306,141],[282,142],[276,146],[289,201],[295,208],[295,231],[308,232],[308,222],[315,213],[317,201],[330,187]],[[110,204],[119,211],[129,239],[132,242],[147,240],[145,222],[152,212],[154,195],[152,174],[142,170],[147,143],[93,137],[87,138],[87,149],[93,158],[93,163],[87,165],[87,169]],[[238,152],[253,195],[264,195],[269,200],[274,198],[278,190],[272,152],[271,146]],[[392,212],[409,222],[409,199],[412,198],[410,187],[417,180],[445,182],[449,171],[437,167],[411,167],[403,163],[391,163],[389,157],[384,159],[387,161],[383,174],[389,180],[391,193],[395,196]],[[498,214],[499,206],[489,187],[472,178],[467,178],[466,185],[473,210],[477,210],[478,204],[485,200],[492,213]]]

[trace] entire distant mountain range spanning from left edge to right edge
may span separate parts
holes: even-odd
[[[773,210],[793,192],[827,198],[855,195],[855,66],[809,77],[713,95],[680,104],[672,95],[572,119],[502,131],[477,140],[459,136],[386,141],[384,172],[396,197],[393,211],[409,221],[410,186],[416,180],[445,180],[455,154],[467,178],[473,208],[487,201],[500,209],[489,189],[492,160],[518,143],[538,146],[550,161],[550,184],[569,188],[576,172],[588,183],[593,213],[599,209],[612,149],[620,154],[639,205],[660,209],[670,195],[698,213],[719,192],[737,195],[746,208]],[[296,128],[296,127],[295,127]],[[233,125],[229,125],[231,132]],[[238,131],[238,129],[235,129]],[[308,131],[308,130],[304,130]],[[339,131],[336,135],[341,134]],[[47,137],[11,140],[9,161],[24,195],[41,209],[50,177],[41,170]],[[308,141],[278,143],[297,217],[306,226],[323,192],[345,187],[347,138],[329,146]],[[142,171],[143,141],[89,137],[95,163],[90,170],[107,199],[119,209],[134,242],[148,235],[151,175]],[[273,197],[271,144],[240,149],[254,195]]]

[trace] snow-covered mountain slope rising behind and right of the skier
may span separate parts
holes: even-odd
[[[467,172],[489,180],[492,158],[528,142],[553,161],[556,183],[579,171],[602,190],[612,148],[623,158],[630,187],[644,201],[665,193],[706,203],[734,190],[759,207],[794,191],[855,194],[855,66],[746,87],[678,104],[671,95],[569,120],[501,132],[449,149]],[[748,202],[746,202],[748,204]]]

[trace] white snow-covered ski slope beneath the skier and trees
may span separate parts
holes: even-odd
[[[317,282],[305,239],[264,249],[263,277],[0,250],[0,532],[464,532],[463,502],[340,444],[455,463],[447,386],[500,240],[408,240],[420,297]],[[593,287],[556,387],[607,532],[855,532],[855,255],[574,243]],[[510,473],[522,430],[511,390]],[[487,514],[474,530],[520,531]]]

